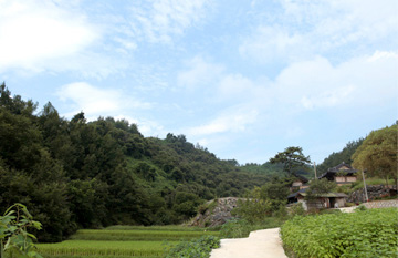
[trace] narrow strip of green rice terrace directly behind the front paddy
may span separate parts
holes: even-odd
[[[71,237],[73,240],[107,240],[107,241],[159,241],[193,239],[201,236],[217,236],[216,231],[172,231],[172,230],[98,230],[82,229]]]

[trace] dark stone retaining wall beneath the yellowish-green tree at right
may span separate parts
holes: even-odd
[[[370,186],[367,186],[367,194],[368,194],[369,200],[373,200],[375,198],[396,195],[397,189],[396,189],[396,186],[386,187],[384,185],[370,185]],[[359,189],[359,190],[353,192],[352,194],[348,195],[347,202],[348,203],[365,203],[366,202],[365,190]]]

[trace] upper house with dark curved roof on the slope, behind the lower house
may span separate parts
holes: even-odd
[[[334,180],[338,186],[352,184],[357,180],[357,171],[344,162],[335,167],[328,168],[327,172],[322,174],[318,179],[327,178]]]

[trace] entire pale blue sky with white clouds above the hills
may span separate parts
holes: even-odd
[[[0,82],[38,112],[50,101],[66,118],[126,118],[240,164],[289,146],[318,164],[398,116],[396,0],[0,0]]]

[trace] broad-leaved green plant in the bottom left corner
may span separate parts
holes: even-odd
[[[42,257],[35,251],[34,235],[28,228],[41,229],[41,224],[22,204],[14,204],[0,216],[0,257]]]

